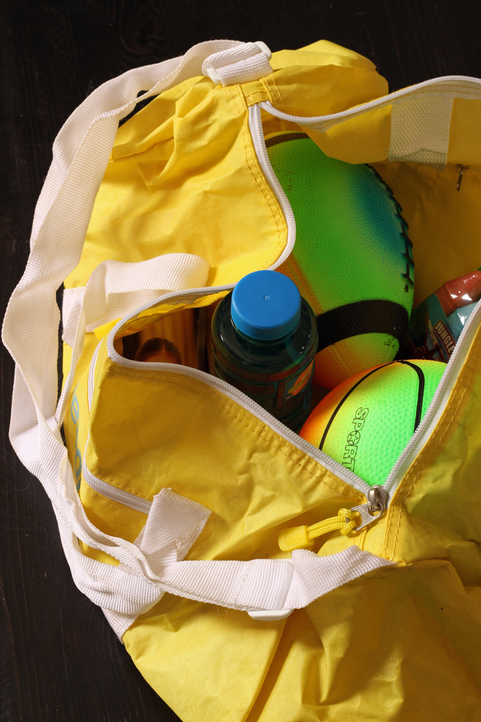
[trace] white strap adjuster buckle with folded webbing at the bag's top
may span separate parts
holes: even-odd
[[[270,75],[272,53],[265,43],[244,43],[237,48],[213,53],[202,65],[202,72],[213,82],[226,85],[245,83]]]

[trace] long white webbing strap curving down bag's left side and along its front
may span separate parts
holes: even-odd
[[[54,143],[53,162],[35,210],[27,268],[12,294],[4,319],[2,338],[16,364],[10,425],[12,445],[50,497],[76,586],[95,604],[120,617],[136,617],[155,604],[164,591],[235,609],[279,605],[282,608],[286,599],[304,606],[319,593],[365,573],[368,567],[389,563],[352,547],[335,557],[316,557],[307,565],[302,560],[306,554],[310,560],[311,552],[294,554],[292,562],[186,562],[172,561],[169,557],[169,563],[164,560],[166,565],[162,567],[158,556],[155,560],[151,558],[151,554],[156,554],[151,547],[142,549],[142,544],[139,547],[120,537],[103,534],[89,521],[62,443],[59,431],[62,400],[56,414],[60,320],[56,289],[79,262],[118,119],[131,111],[140,90],[150,87],[143,97],[156,95],[188,77],[200,75],[207,56],[241,44],[227,40],[201,43],[182,58],[128,71],[97,88],[74,111]],[[101,305],[96,306],[97,310]],[[82,308],[75,334],[69,331],[70,336],[75,336],[72,367],[83,344],[85,318]],[[179,510],[182,516],[183,503]],[[175,515],[172,520],[175,521]],[[182,523],[179,529],[183,529]],[[191,531],[189,541],[194,537]],[[77,539],[110,554],[120,566],[84,556]],[[186,545],[187,542],[184,547],[180,544],[177,551]],[[155,562],[156,571],[150,562]],[[312,568],[316,570],[314,573]]]

